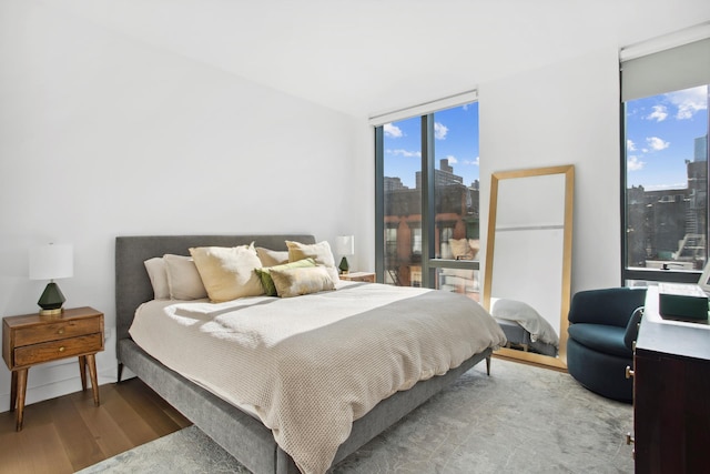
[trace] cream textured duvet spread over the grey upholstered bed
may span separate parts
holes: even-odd
[[[304,473],[325,472],[379,401],[506,342],[463,295],[352,283],[290,299],[152,301],[130,334],[166,366],[252,406]]]

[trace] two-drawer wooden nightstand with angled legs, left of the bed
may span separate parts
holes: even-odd
[[[81,389],[91,376],[93,403],[99,406],[97,352],[103,351],[103,313],[93,307],[64,310],[53,316],[38,313],[2,320],[2,359],[12,372],[10,411],[16,410],[16,428],[22,430],[27,373],[32,365],[65,357],[79,357]]]

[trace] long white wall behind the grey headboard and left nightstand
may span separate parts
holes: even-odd
[[[72,243],[74,276],[58,283],[67,307],[105,313],[106,383],[119,234],[348,233],[353,266],[371,265],[359,122],[27,3],[0,11],[0,315],[38,310],[28,249]],[[78,373],[31,369],[28,403],[79,390]],[[0,411],[9,392],[1,364]]]

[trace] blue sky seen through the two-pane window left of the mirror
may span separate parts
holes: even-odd
[[[384,125],[385,177],[398,177],[407,188],[416,186],[422,170],[422,122],[418,117]],[[454,174],[470,185],[478,171],[478,102],[443,110],[434,114],[435,168],[448,158]]]

